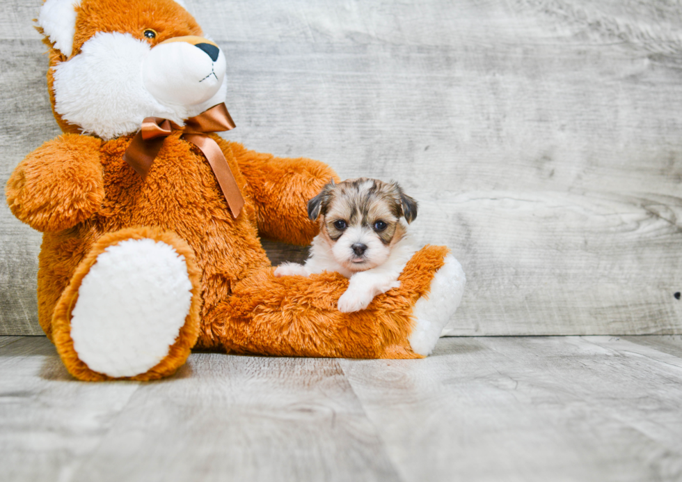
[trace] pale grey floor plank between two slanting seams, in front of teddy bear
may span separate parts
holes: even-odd
[[[191,355],[145,384],[73,481],[398,481],[329,359]]]

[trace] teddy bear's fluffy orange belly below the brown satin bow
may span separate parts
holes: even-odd
[[[96,216],[103,233],[134,226],[172,231],[189,243],[207,275],[237,280],[270,265],[257,236],[253,203],[246,199],[234,219],[196,146],[169,137],[144,180],[122,160],[126,147],[121,139],[102,146],[106,198]]]

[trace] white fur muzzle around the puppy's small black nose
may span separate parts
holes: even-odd
[[[353,244],[365,244],[364,263],[354,263],[357,258]],[[379,236],[371,229],[353,226],[344,231],[332,248],[337,263],[351,271],[365,271],[383,264],[390,255],[390,248],[381,242]]]

